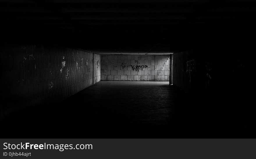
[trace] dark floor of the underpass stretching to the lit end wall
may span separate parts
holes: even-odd
[[[188,95],[168,84],[100,81],[63,102],[13,114],[3,121],[2,134],[18,138],[250,137],[253,131],[239,128],[236,117],[231,122],[230,110],[223,111],[207,92]]]

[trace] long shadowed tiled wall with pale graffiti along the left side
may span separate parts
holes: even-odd
[[[100,81],[100,55],[75,49],[19,46],[1,49],[2,100],[15,107],[61,101]],[[93,72],[94,69],[94,72]],[[94,74],[94,78],[93,78]],[[19,104],[17,104],[19,103]]]

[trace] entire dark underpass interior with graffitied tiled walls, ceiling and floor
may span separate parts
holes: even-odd
[[[255,2],[0,4],[1,137],[255,137]]]

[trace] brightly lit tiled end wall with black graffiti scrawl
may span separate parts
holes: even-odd
[[[102,81],[169,81],[170,55],[102,55]]]

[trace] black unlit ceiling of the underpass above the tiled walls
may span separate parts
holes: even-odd
[[[63,45],[98,53],[169,53],[224,42],[222,35],[249,32],[255,11],[250,0],[0,2],[5,44]]]

